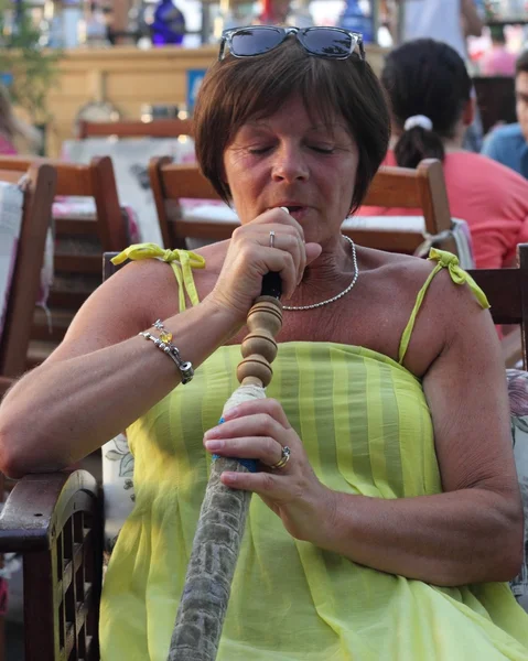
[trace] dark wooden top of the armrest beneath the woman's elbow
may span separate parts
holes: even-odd
[[[98,496],[97,481],[86,470],[26,475],[0,514],[0,553],[51,549],[72,512]]]

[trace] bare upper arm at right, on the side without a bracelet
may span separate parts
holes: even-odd
[[[481,487],[518,499],[500,344],[468,288],[451,289],[445,344],[423,379],[443,489]]]

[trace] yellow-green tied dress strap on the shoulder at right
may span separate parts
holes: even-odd
[[[425,280],[423,286],[418,292],[417,302],[414,303],[414,307],[412,308],[411,316],[407,322],[407,326],[401,335],[400,348],[398,350],[398,362],[400,365],[403,364],[403,359],[407,354],[407,348],[409,347],[409,342],[411,339],[412,330],[414,328],[414,323],[417,321],[418,313],[420,312],[421,304],[425,296],[425,293],[429,289],[429,285],[432,282],[432,279],[439,271],[442,269],[448,269],[449,274],[451,275],[451,280],[455,284],[467,284],[471,291],[473,292],[475,299],[478,301],[481,306],[485,310],[489,307],[489,303],[486,299],[486,294],[482,291],[482,289],[477,285],[477,283],[473,280],[473,278],[460,268],[459,258],[451,252],[446,252],[445,250],[438,250],[437,248],[431,248],[429,251],[429,258],[432,261],[437,262],[434,269],[429,273],[428,279]]]

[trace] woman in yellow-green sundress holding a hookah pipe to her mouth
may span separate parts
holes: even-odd
[[[125,251],[138,261],[2,403],[12,475],[67,466],[127,429],[136,507],[105,579],[104,661],[165,661],[213,453],[262,468],[222,478],[260,498],[219,660],[528,654],[527,617],[503,583],[519,568],[522,516],[485,297],[453,284],[463,272],[446,253],[432,263],[341,236],[388,142],[360,46],[334,29],[224,39],[195,139],[243,226],[197,256]],[[285,312],[268,399],[214,426],[269,271]],[[138,337],[157,318],[152,335],[194,366],[185,386],[190,366]]]

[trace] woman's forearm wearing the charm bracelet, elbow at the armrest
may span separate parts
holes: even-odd
[[[195,369],[234,330],[233,319],[206,302],[164,323],[182,359]],[[174,362],[136,334],[45,362],[2,401],[0,469],[18,477],[68,466],[123,431],[179,382]]]

